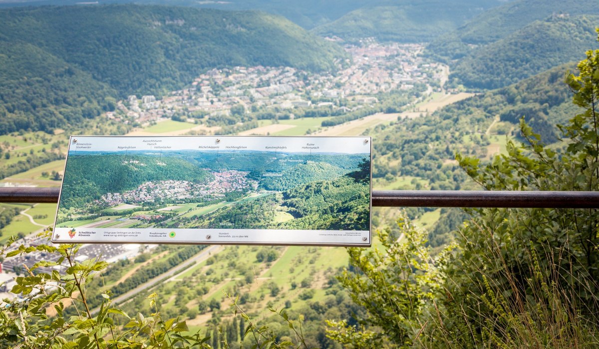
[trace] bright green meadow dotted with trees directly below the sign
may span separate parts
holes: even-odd
[[[233,297],[243,294],[239,302],[258,317],[269,315],[267,304],[283,308],[285,300],[291,300],[291,307],[299,308],[308,301],[322,301],[329,287],[328,279],[346,264],[347,254],[341,248],[226,246],[219,254],[193,265],[156,290],[162,307],[181,308],[180,314],[185,314],[190,330],[194,331],[203,328],[213,316],[208,305],[217,302],[217,308],[229,308],[231,302],[225,294]],[[183,300],[181,290],[186,291]]]

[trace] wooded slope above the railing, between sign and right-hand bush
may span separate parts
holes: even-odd
[[[452,160],[455,152],[485,157],[488,145],[486,132],[495,118],[509,122],[513,127],[524,116],[544,142],[555,142],[555,125],[564,123],[576,107],[569,103],[571,95],[564,85],[567,71],[574,65],[561,65],[503,89],[476,95],[464,101],[444,107],[422,118],[398,122],[391,127],[378,127],[374,144],[373,177],[418,176],[434,180],[434,173],[443,167],[444,160]],[[509,134],[512,127],[496,124],[491,131]],[[393,157],[386,156],[393,154]],[[389,163],[398,158],[400,161]],[[445,161],[447,163],[447,161]],[[447,166],[447,165],[446,165]],[[459,180],[438,188],[453,189]]]

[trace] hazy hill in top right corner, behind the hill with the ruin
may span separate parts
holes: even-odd
[[[516,0],[491,8],[455,31],[441,35],[428,52],[441,61],[459,59],[479,46],[492,43],[536,20],[559,14],[599,15],[597,0]]]

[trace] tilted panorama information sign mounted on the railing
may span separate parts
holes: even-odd
[[[370,246],[371,143],[72,136],[52,241]]]

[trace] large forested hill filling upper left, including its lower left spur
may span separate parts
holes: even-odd
[[[332,70],[341,47],[256,11],[107,5],[0,11],[0,134],[93,118],[128,94],[161,94],[205,68]]]

